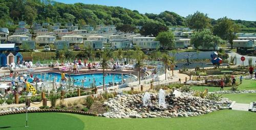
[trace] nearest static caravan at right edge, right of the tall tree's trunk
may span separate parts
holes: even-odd
[[[256,45],[256,40],[233,40],[233,47],[253,48]],[[228,44],[227,46],[231,46]]]

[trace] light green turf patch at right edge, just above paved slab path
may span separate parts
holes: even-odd
[[[256,93],[223,94],[222,96],[234,100],[237,103],[250,103],[256,101]]]

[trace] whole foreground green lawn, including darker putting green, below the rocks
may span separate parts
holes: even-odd
[[[256,113],[222,110],[196,117],[109,119],[63,113],[29,113],[0,116],[0,128],[5,129],[254,129]]]

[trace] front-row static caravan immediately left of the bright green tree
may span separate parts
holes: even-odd
[[[160,48],[159,41],[137,41],[136,46],[142,49],[156,49]]]

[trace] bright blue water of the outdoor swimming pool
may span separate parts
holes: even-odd
[[[41,77],[42,75],[42,77]],[[54,77],[56,77],[56,82],[61,81],[61,74],[60,73],[42,73],[42,74],[33,74],[33,77],[37,76],[39,79],[53,81]],[[69,74],[65,74],[65,76],[68,78]],[[76,81],[74,85],[82,86],[82,80],[84,80],[83,86],[84,87],[90,87],[90,85],[93,83],[93,80],[95,80],[96,86],[102,85],[103,77],[102,73],[92,73],[92,74],[70,74],[72,80]],[[113,76],[114,76],[114,83],[121,82],[122,81],[122,74],[120,73],[111,73],[107,76],[105,76],[105,85],[108,85],[109,82],[113,82]],[[127,77],[130,77],[130,74],[123,74],[123,79],[126,79]],[[11,80],[10,77],[7,77],[6,80]]]

